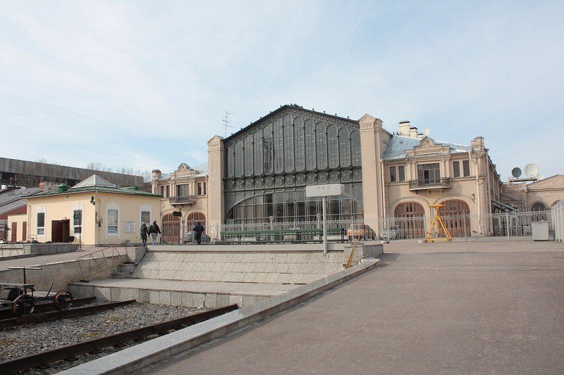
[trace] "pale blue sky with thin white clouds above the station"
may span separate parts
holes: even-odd
[[[0,156],[176,170],[288,103],[564,174],[564,1],[0,1]]]

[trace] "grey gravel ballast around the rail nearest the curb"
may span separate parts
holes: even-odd
[[[167,322],[204,311],[207,311],[207,309],[132,303],[131,305],[116,307],[97,314],[72,317],[55,322],[31,324],[29,326],[18,326],[0,331],[0,362],[14,360],[18,357],[94,338],[109,336],[114,333],[129,331],[142,326]],[[107,348],[100,355],[107,355],[114,351],[116,349]],[[76,366],[86,360],[93,360],[100,355],[87,354],[79,361],[57,362],[47,371],[32,370],[27,371],[27,373],[53,374],[56,371]]]

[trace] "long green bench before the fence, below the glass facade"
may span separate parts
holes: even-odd
[[[345,242],[344,228],[329,228],[329,242]],[[221,243],[307,243],[323,242],[323,229],[284,229],[260,231],[221,231]]]

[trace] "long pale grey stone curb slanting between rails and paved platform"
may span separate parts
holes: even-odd
[[[271,315],[288,310],[295,305],[309,300],[345,281],[364,274],[379,266],[380,260],[365,260],[350,269],[331,274],[310,284],[299,286],[281,295],[261,300],[255,305],[243,307],[233,312],[221,315],[206,322],[188,326],[168,335],[160,336],[131,348],[106,355],[80,364],[77,367],[59,372],[60,375],[102,375],[124,374],[147,367],[180,352],[207,341],[225,336],[249,324],[259,322]]]

